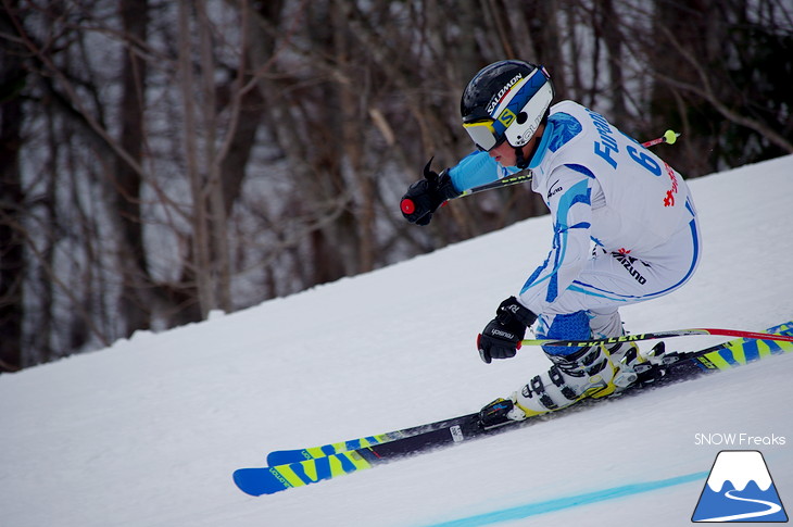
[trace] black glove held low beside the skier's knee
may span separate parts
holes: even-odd
[[[526,328],[537,321],[537,315],[525,308],[515,297],[504,300],[477,337],[477,348],[482,361],[490,364],[493,359],[512,359],[520,349]]]

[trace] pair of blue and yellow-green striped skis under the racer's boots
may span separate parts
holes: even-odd
[[[768,328],[767,332],[793,336],[793,322]],[[640,393],[649,387],[688,380],[708,372],[732,369],[791,351],[793,342],[790,341],[738,338],[700,351],[666,353],[665,364],[649,367],[640,374],[639,382],[619,397]],[[587,402],[592,403],[590,400]],[[562,413],[564,411],[554,414]],[[484,429],[479,425],[479,413],[476,412],[377,436],[314,448],[278,450],[267,455],[269,466],[240,468],[234,473],[234,480],[240,490],[251,495],[272,494],[370,468],[405,455],[518,428],[536,421],[529,418],[495,429]]]

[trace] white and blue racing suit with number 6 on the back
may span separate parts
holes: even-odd
[[[538,337],[622,335],[620,306],[667,294],[693,275],[701,243],[685,181],[602,115],[572,101],[552,106],[529,168],[554,226],[547,258],[516,294],[539,315]],[[516,171],[476,152],[450,175],[465,190]]]

